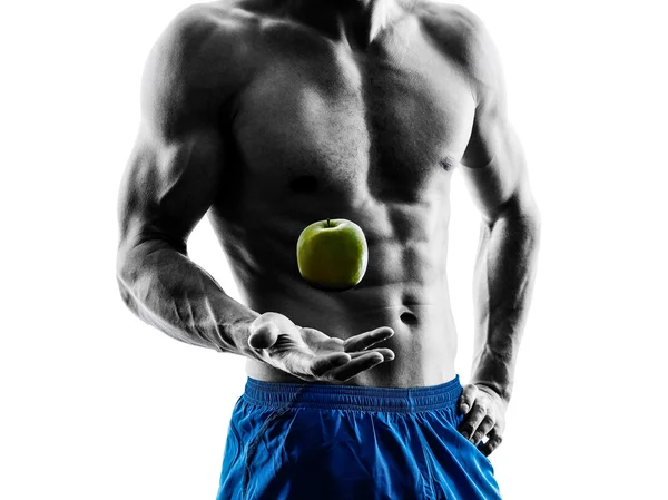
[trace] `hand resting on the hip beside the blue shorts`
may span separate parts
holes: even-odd
[[[468,384],[458,408],[465,414],[459,431],[477,445],[482,454],[490,455],[501,444],[508,403],[485,385]],[[488,441],[479,445],[484,437],[488,437]]]

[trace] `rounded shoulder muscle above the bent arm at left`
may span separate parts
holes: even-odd
[[[145,116],[169,122],[203,112],[214,118],[244,85],[257,28],[254,16],[238,3],[196,3],[168,23],[144,68]]]

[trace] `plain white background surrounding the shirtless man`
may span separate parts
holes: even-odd
[[[213,499],[244,360],[122,305],[116,197],[140,71],[180,0],[2,9],[0,498]],[[665,479],[666,17],[659,1],[469,1],[504,62],[543,218],[504,498],[659,498]],[[469,378],[479,215],[454,174]],[[208,222],[191,257],[238,300]]]

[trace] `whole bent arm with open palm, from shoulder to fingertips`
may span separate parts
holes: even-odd
[[[223,183],[233,146],[219,129],[219,112],[245,79],[248,43],[232,21],[203,21],[198,9],[206,8],[177,18],[148,58],[141,127],[120,187],[121,296],[141,320],[179,341],[245,355],[306,381],[345,382],[394,357],[387,347],[371,349],[392,329],[343,341],[277,312],[259,314],[188,258],[188,235],[229,192]]]

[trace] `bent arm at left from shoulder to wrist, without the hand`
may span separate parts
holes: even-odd
[[[140,131],[120,186],[117,276],[125,303],[146,323],[189,344],[253,356],[248,325],[259,314],[229,297],[186,249],[225,182],[230,145],[219,110],[243,77],[233,53],[238,36],[203,19],[194,9],[177,17],[148,58]],[[216,65],[207,60],[214,46]]]

